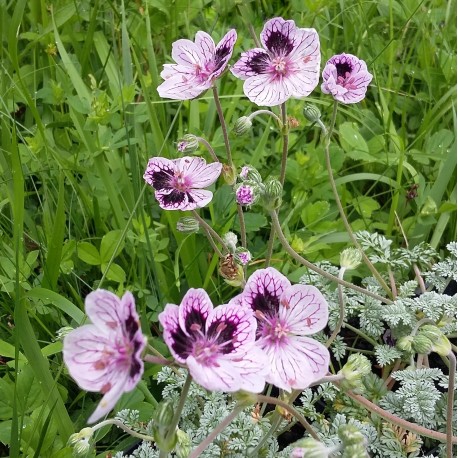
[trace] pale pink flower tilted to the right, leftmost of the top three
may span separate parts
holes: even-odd
[[[237,32],[229,30],[216,47],[212,37],[205,32],[196,33],[195,43],[175,41],[172,58],[176,64],[164,65],[161,77],[165,81],[157,88],[159,95],[188,100],[209,89],[225,70],[236,40]]]

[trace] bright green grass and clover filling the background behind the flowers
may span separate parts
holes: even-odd
[[[347,52],[364,59],[374,75],[363,102],[339,105],[332,138],[334,177],[353,230],[381,234],[393,241],[392,250],[427,242],[442,258],[448,256],[445,247],[456,239],[455,1],[2,0],[3,456],[72,455],[67,439],[85,426],[100,395],[81,391],[69,377],[56,333],[85,322],[84,297],[90,291],[132,291],[143,333],[163,354],[157,316],[165,304],[179,304],[190,287],[205,288],[215,304],[238,293],[218,274],[218,256],[207,239],[178,232],[182,213],[160,210],[142,175],[149,157],[178,157],[176,142],[186,133],[206,138],[225,158],[211,91],[185,102],[157,94],[172,42],[193,39],[198,30],[218,41],[236,28],[233,63],[253,47],[250,28],[259,35],[265,20],[275,16],[318,31],[322,66],[333,54]],[[229,73],[218,81],[218,90],[229,125],[255,110],[242,82]],[[318,87],[307,101],[329,122],[331,98]],[[339,265],[341,251],[351,243],[329,184],[320,131],[304,118],[303,106],[300,100],[288,102],[288,115],[299,126],[290,132],[279,218],[303,257]],[[274,111],[278,114],[278,107]],[[247,136],[230,139],[237,167],[249,164],[264,179],[278,176],[282,139],[273,119],[258,117]],[[200,214],[219,234],[239,230],[233,191],[222,178]],[[259,267],[270,218],[259,207],[245,216],[253,266]],[[271,264],[293,282],[307,272],[278,241]],[[396,271],[388,262],[376,265],[387,279]],[[398,286],[415,279],[409,269],[397,267]],[[369,272],[360,266],[351,273],[359,284]],[[383,315],[380,323],[384,330],[398,322]],[[339,345],[343,351],[334,361],[336,371],[343,355],[358,349],[377,365],[374,345],[368,347],[357,331],[347,328],[336,340],[334,354]],[[379,347],[386,343],[382,334],[368,333]],[[377,351],[373,373],[386,378],[400,355]],[[147,365],[144,382],[122,397],[118,410],[138,410],[140,420],[148,421],[162,397],[163,385],[155,379],[159,369]],[[385,401],[385,408],[397,402],[405,410],[397,396]],[[336,411],[342,405],[336,401]],[[362,415],[351,408],[357,411],[347,405],[339,415]],[[388,429],[380,426],[383,437],[391,434],[389,440],[396,441]],[[133,443],[108,428],[98,431],[97,440],[100,456]],[[433,450],[432,444],[422,450]],[[420,456],[419,450],[391,456]]]

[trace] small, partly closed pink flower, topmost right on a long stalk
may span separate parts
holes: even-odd
[[[338,54],[326,62],[321,90],[339,102],[357,103],[364,99],[371,81],[363,60],[352,54]]]

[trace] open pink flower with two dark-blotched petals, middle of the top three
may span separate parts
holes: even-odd
[[[294,21],[270,19],[261,33],[265,49],[242,53],[231,68],[245,95],[257,105],[280,105],[290,97],[305,97],[318,85],[320,41],[315,29],[300,29]]]

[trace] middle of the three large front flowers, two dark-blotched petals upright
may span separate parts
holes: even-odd
[[[254,346],[256,319],[248,307],[213,308],[203,289],[190,289],[180,306],[167,304],[159,321],[173,357],[199,385],[217,391],[264,389],[267,361]]]

